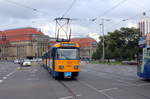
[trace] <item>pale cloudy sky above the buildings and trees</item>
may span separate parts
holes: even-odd
[[[102,18],[110,19],[104,21],[107,33],[136,26],[144,11],[150,15],[150,0],[0,0],[0,30],[40,27],[45,34],[54,36],[54,18],[61,17],[73,1],[65,17],[76,19],[71,21],[74,36],[101,35]],[[130,20],[122,21],[128,18]]]

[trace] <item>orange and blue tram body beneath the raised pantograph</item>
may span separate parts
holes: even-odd
[[[43,55],[43,65],[54,78],[76,78],[80,72],[79,45],[58,42]]]

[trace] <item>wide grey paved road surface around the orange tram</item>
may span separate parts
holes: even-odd
[[[53,79],[41,66],[0,63],[0,99],[150,99],[136,66],[81,65],[76,80]]]

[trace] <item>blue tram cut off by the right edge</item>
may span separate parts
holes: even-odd
[[[140,38],[139,46],[143,48],[143,55],[139,58],[137,75],[144,79],[150,79],[150,44],[149,34]]]

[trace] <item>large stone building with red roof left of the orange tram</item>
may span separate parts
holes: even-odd
[[[41,57],[48,50],[48,40],[48,36],[31,27],[1,31],[0,59]]]

